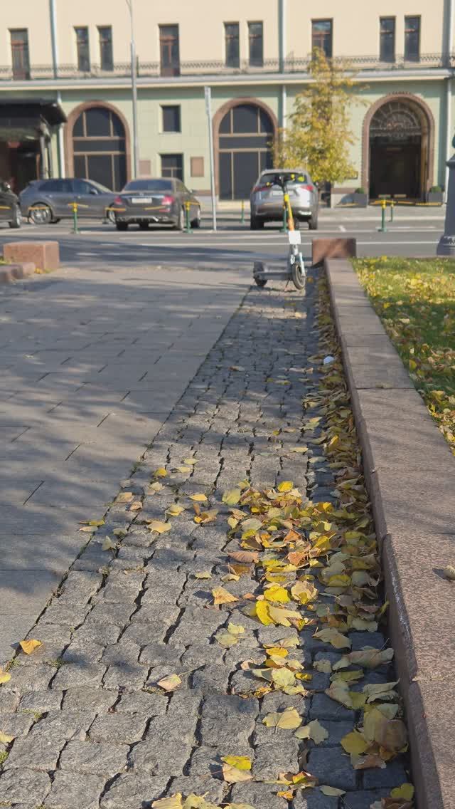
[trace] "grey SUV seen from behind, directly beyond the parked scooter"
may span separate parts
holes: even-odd
[[[276,175],[284,176],[289,191],[289,202],[298,227],[308,222],[310,231],[318,229],[318,188],[308,172],[301,168],[272,168],[263,172],[251,191],[252,231],[263,228],[264,222],[282,222],[283,191],[273,182]]]

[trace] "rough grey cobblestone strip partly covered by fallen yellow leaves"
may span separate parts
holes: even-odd
[[[273,436],[278,426],[301,426],[308,392],[302,370],[318,348],[314,287],[308,285],[306,298],[283,288],[251,290],[125,485],[142,510],[129,510],[131,498],[121,502],[128,494],[117,499],[40,615],[29,637],[44,646],[29,657],[19,652],[11,680],[0,687],[0,729],[15,736],[2,748],[0,805],[146,809],[182,792],[255,809],[369,809],[407,781],[397,763],[352,769],[339,739],[356,714],[324,694],[329,675],[314,672],[310,697],[252,696],[258,681],[242,661],[262,662],[264,642],[297,630],[259,625],[236,604],[213,608],[212,588],[222,586],[227,571],[226,489],[245,477],[256,487],[292,480],[314,501],[333,499],[331,471],[311,463],[318,447],[292,454],[291,445],[303,442],[300,433]],[[280,384],[284,377],[292,384]],[[188,456],[197,460],[194,471],[171,474]],[[162,466],[170,474],[154,493],[150,480]],[[220,507],[206,526],[196,525],[188,500],[200,492]],[[163,519],[175,502],[187,510],[170,532],[151,534],[145,520]],[[123,534],[116,553],[102,550],[106,536]],[[196,578],[205,572],[209,581]],[[258,582],[242,576],[226,587],[242,595],[258,591]],[[229,621],[246,631],[226,649],[214,636]],[[380,633],[351,637],[353,650],[385,643]],[[307,666],[339,657],[308,630],[300,643],[295,656]],[[182,684],[166,694],[158,680],[173,674]],[[390,675],[375,671],[369,681]],[[290,705],[321,720],[327,741],[299,748],[293,731],[263,725],[265,714]],[[297,773],[308,747],[304,769],[347,790],[343,798],[303,790],[289,803],[267,783],[280,772]],[[251,756],[253,780],[234,786],[221,780],[219,756],[226,755]]]

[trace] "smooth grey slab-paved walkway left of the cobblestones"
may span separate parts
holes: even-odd
[[[103,515],[248,281],[88,265],[0,290],[0,663],[85,544],[79,521]]]

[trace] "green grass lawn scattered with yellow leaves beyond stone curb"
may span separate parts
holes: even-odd
[[[455,455],[455,261],[354,261],[390,339]]]

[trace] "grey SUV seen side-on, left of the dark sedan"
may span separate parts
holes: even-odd
[[[73,202],[78,202],[79,217],[109,218],[114,215],[109,210],[116,194],[95,183],[95,180],[32,180],[19,194],[20,209],[24,217],[36,225],[59,222],[73,216]]]

